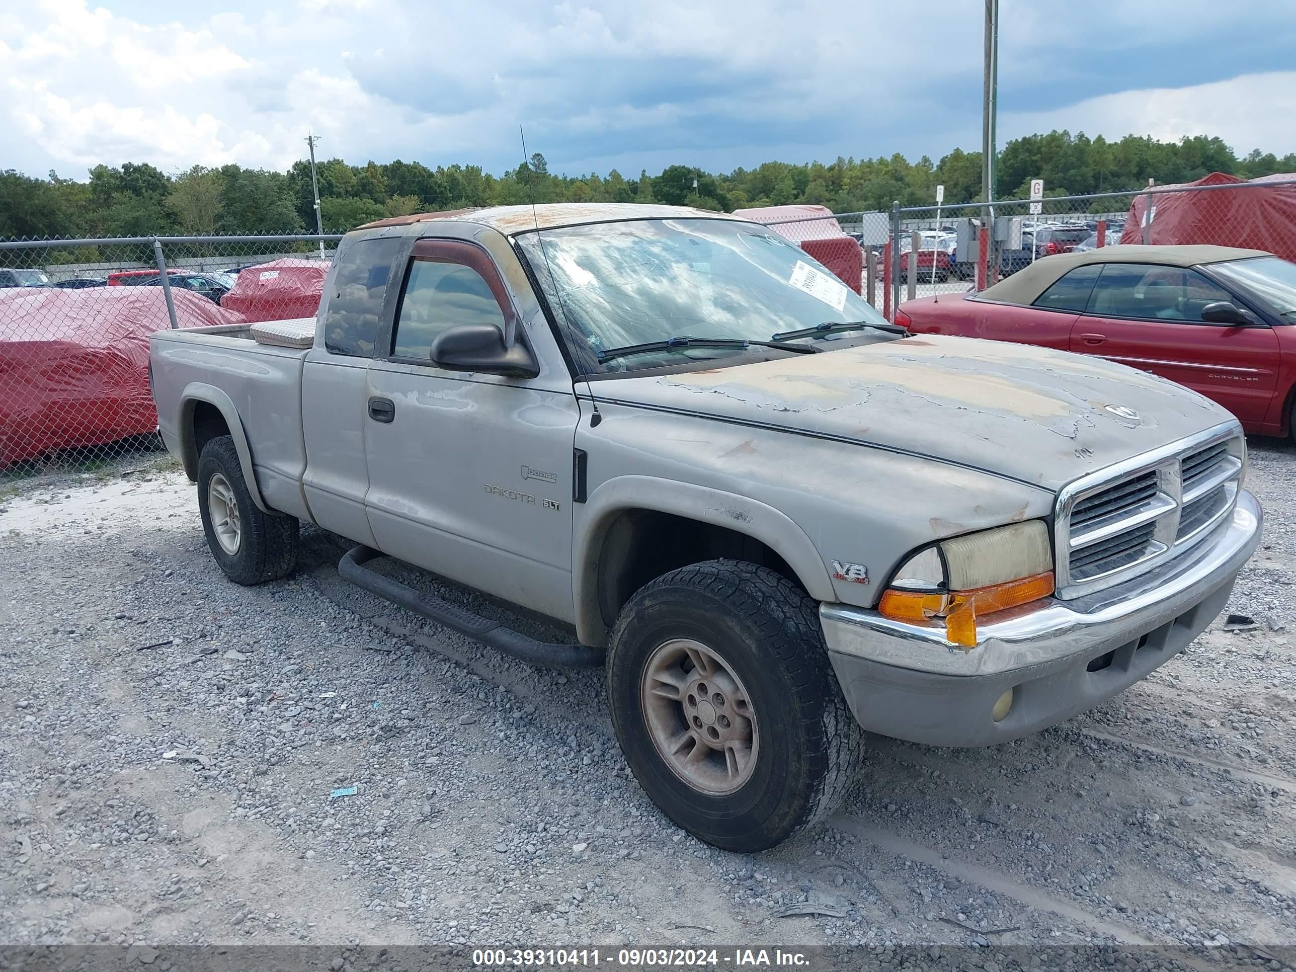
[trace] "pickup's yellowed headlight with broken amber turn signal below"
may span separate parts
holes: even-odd
[[[896,572],[877,604],[896,621],[945,619],[953,644],[976,647],[976,618],[1054,592],[1052,551],[1042,520],[924,547]]]

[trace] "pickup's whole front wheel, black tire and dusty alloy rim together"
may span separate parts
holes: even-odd
[[[714,560],[640,588],[612,635],[608,695],[652,801],[726,850],[804,831],[854,779],[862,734],[815,604],[767,568]]]

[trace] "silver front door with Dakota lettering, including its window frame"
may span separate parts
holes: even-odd
[[[572,604],[570,376],[455,372],[429,359],[461,324],[517,311],[481,246],[420,240],[368,369],[365,511],[378,550],[561,619]],[[522,328],[517,327],[518,340]]]

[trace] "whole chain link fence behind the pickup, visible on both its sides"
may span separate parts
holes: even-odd
[[[758,219],[885,316],[993,285],[1059,253],[1218,244],[1296,260],[1296,176],[1147,187],[985,206]],[[0,478],[156,448],[148,336],[167,327],[314,316],[333,236],[0,241]]]

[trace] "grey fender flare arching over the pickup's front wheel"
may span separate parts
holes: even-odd
[[[805,530],[787,513],[749,496],[651,476],[618,476],[600,483],[577,509],[572,592],[577,634],[583,644],[600,645],[608,640],[599,610],[599,556],[608,527],[627,509],[670,513],[746,534],[783,557],[811,597],[837,600],[828,568]]]

